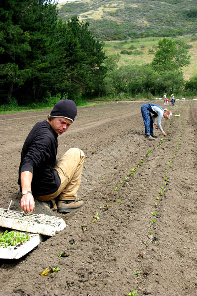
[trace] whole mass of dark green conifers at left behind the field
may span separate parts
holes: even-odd
[[[100,92],[105,54],[88,23],[58,21],[51,0],[1,1],[0,20],[1,104]]]

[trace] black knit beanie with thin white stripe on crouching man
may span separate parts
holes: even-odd
[[[61,100],[55,104],[50,116],[67,118],[73,122],[77,116],[77,106],[72,100]]]

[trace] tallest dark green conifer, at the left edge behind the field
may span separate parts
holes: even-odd
[[[50,85],[56,5],[44,0],[0,2],[1,102],[41,97]]]

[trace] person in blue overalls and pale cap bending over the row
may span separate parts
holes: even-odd
[[[142,118],[144,121],[145,126],[145,137],[148,140],[155,140],[157,138],[157,135],[154,135],[153,131],[153,124],[156,129],[160,129],[161,133],[166,136],[166,133],[162,129],[161,121],[164,117],[165,119],[169,119],[172,116],[172,112],[169,110],[163,110],[162,107],[156,105],[156,104],[144,104],[141,107],[141,113]],[[157,123],[155,121],[155,118],[157,117]]]

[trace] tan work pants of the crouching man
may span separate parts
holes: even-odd
[[[36,196],[36,198],[42,201],[53,201],[59,196],[58,200],[75,200],[81,182],[84,159],[82,150],[70,148],[55,166],[61,180],[58,190],[49,195]],[[55,201],[53,204],[56,208]]]

